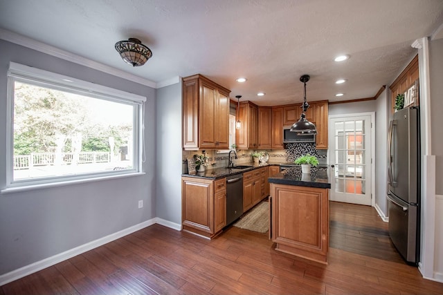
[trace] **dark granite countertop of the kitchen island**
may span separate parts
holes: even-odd
[[[301,167],[293,167],[284,170],[273,177],[268,178],[269,183],[298,185],[300,187],[317,187],[320,189],[330,189],[329,175],[327,168],[311,167],[311,173],[302,173]]]

